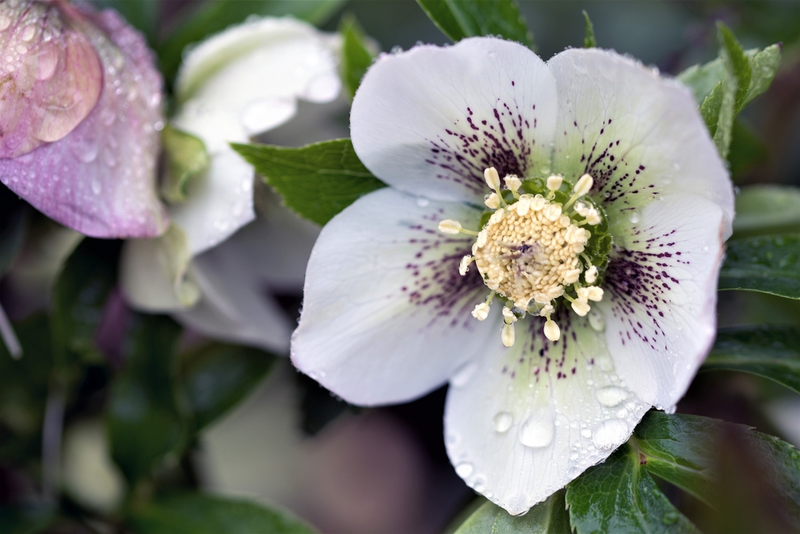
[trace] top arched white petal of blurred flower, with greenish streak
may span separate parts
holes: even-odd
[[[294,115],[298,98],[330,102],[339,95],[335,49],[334,40],[293,19],[245,22],[187,54],[176,93],[184,107],[223,112],[246,135],[256,135]],[[182,120],[212,149],[214,140],[230,141]]]

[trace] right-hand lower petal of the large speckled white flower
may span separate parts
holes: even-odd
[[[593,308],[620,376],[650,404],[674,407],[714,341],[725,224],[713,202],[673,195],[615,243]]]

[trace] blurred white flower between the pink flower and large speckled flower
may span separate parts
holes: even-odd
[[[299,290],[317,228],[271,202],[256,218],[254,171],[230,143],[291,120],[297,101],[341,92],[338,41],[294,19],[248,21],[184,57],[175,128],[200,138],[208,168],[169,206],[169,231],[126,243],[124,292],[206,335],[286,350],[293,325],[268,290]],[[313,136],[313,132],[312,132]]]

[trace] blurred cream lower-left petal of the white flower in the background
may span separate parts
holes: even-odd
[[[191,259],[186,234],[174,224],[161,237],[129,239],[120,258],[120,283],[126,300],[148,312],[194,305],[200,292],[187,276]]]

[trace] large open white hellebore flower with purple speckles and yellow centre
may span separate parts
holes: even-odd
[[[297,367],[363,405],[449,381],[456,472],[512,514],[673,409],[733,217],[686,88],[613,52],[472,38],[383,56],[351,128],[391,187],[322,230]]]

